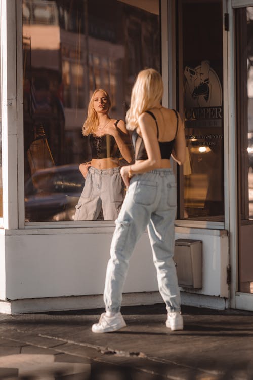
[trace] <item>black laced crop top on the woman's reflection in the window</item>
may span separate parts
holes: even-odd
[[[117,126],[119,120],[116,121],[115,126]],[[92,150],[92,158],[94,159],[121,157],[120,150],[116,144],[115,138],[111,135],[106,134],[104,136],[98,137],[94,134],[91,134],[90,145]]]

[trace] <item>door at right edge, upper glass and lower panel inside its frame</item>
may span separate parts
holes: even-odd
[[[238,164],[236,308],[253,309],[253,3],[234,9]]]

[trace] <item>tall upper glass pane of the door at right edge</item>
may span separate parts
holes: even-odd
[[[253,220],[253,7],[236,10],[241,220]]]

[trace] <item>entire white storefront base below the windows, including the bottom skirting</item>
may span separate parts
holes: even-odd
[[[113,227],[2,230],[0,312],[17,314],[103,307]],[[182,303],[228,306],[228,236],[221,230],[176,227],[176,239],[203,243],[202,289],[182,289]],[[185,292],[184,292],[185,291]],[[147,233],[130,261],[123,305],[162,302]]]

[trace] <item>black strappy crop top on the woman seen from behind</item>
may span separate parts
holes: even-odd
[[[176,139],[177,133],[178,133],[178,113],[175,111],[175,109],[173,109],[173,111],[175,112],[176,117],[177,117],[177,130],[176,130],[176,134],[175,134],[175,137],[173,140],[164,141],[164,142],[158,141],[162,159],[170,159],[171,154],[172,154],[172,149],[173,149],[173,146],[175,143],[175,139]],[[157,129],[157,139],[158,139],[159,138],[159,129],[158,129],[156,117],[154,116],[154,114],[151,111],[146,111],[146,112],[149,113],[149,115],[151,115],[155,121],[156,129]],[[147,160],[148,155],[147,155],[147,152],[146,152],[146,149],[144,146],[143,139],[140,135],[138,135],[138,133],[136,132],[136,129],[132,133],[132,140],[133,140],[133,145],[135,148],[135,159],[136,160]]]

